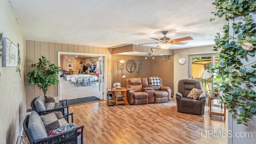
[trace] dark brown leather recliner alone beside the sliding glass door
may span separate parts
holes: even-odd
[[[203,90],[202,83],[196,79],[183,79],[178,82],[178,92],[176,93],[178,112],[204,115],[206,96],[202,93],[198,100],[187,98],[193,88]]]

